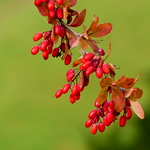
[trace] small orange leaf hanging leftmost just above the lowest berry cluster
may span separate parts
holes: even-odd
[[[108,92],[106,89],[101,89],[98,95],[98,104],[102,105],[107,100]]]

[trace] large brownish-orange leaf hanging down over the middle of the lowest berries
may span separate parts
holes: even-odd
[[[112,100],[114,101],[114,108],[117,112],[121,112],[125,107],[124,94],[117,87],[112,87],[111,93]]]

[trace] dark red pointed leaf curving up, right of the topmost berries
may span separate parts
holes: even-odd
[[[70,24],[71,27],[78,27],[80,26],[84,20],[85,20],[85,15],[86,15],[86,9],[82,10],[81,13],[77,13],[74,21]]]

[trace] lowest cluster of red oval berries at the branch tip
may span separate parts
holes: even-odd
[[[118,113],[114,108],[114,101],[105,101],[102,105],[99,105],[98,99],[95,100],[95,107],[97,109],[92,110],[88,117],[89,119],[85,122],[85,127],[91,127],[91,133],[96,134],[99,130],[100,132],[105,131],[106,126],[110,126],[112,122],[115,122],[120,113]],[[126,120],[132,117],[132,111],[130,109],[130,102],[126,100],[126,106],[123,111],[123,115],[119,118],[120,127],[126,125]]]

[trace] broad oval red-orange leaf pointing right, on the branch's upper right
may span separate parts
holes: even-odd
[[[102,37],[110,33],[111,30],[112,30],[111,23],[104,23],[96,26],[93,30],[88,32],[88,35],[91,37]]]

